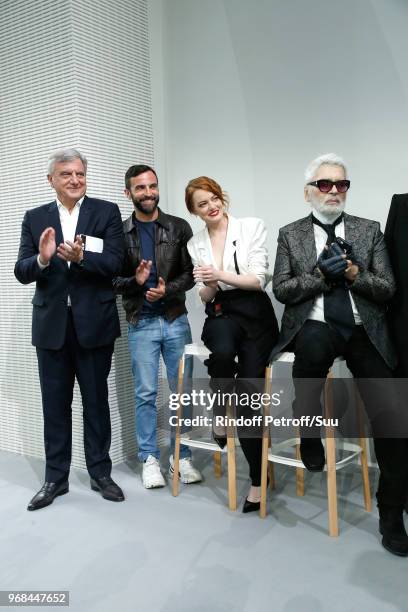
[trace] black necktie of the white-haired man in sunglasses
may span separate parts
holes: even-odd
[[[326,245],[330,247],[336,240],[334,228],[343,221],[343,215],[337,217],[334,223],[321,223],[312,215],[313,223],[320,225],[327,233]],[[323,294],[324,318],[326,323],[337,331],[346,341],[353,333],[355,321],[351,306],[350,293],[345,282],[332,285],[328,293]]]

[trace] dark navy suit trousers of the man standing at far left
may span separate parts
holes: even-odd
[[[71,465],[71,404],[75,377],[82,396],[84,450],[91,477],[109,476],[111,423],[107,378],[113,344],[85,349],[78,343],[69,309],[66,337],[60,350],[37,348],[44,414],[45,480],[68,478]]]

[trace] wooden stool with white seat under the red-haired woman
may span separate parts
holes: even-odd
[[[185,358],[187,356],[196,356],[200,359],[207,359],[210,356],[210,351],[201,344],[186,344],[184,347],[183,355],[179,362],[178,369],[178,380],[177,380],[177,392],[179,397],[183,393],[183,381],[184,381],[184,367]],[[208,442],[200,440],[199,438],[193,439],[191,435],[183,435],[180,431],[180,419],[182,418],[183,408],[179,404],[177,408],[177,424],[175,428],[175,441],[174,441],[174,474],[173,474],[173,495],[176,497],[179,494],[179,461],[180,461],[180,444],[190,446],[193,448],[201,448],[203,450],[212,451],[214,453],[214,472],[217,478],[221,477],[221,455],[222,453],[227,454],[227,466],[228,466],[228,506],[230,510],[237,509],[237,484],[236,484],[236,460],[235,460],[235,435],[233,427],[231,425],[232,407],[230,403],[227,404],[226,415],[227,415],[227,445],[222,450],[216,442]]]

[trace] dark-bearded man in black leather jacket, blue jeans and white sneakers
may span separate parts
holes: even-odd
[[[122,295],[129,324],[138,456],[143,461],[143,484],[151,489],[165,485],[157,445],[160,354],[170,389],[175,392],[178,362],[185,344],[191,342],[185,292],[194,285],[193,265],[187,251],[192,231],[187,221],[158,208],[159,186],[153,168],[131,166],[125,175],[125,185],[134,212],[123,223],[124,266],[113,284]],[[182,482],[201,480],[188,447],[181,446],[179,466]],[[169,474],[173,474],[172,455]]]

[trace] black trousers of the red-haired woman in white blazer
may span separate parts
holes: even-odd
[[[264,323],[264,333],[250,337],[244,327],[233,316],[208,317],[201,336],[211,351],[208,360],[208,374],[213,380],[213,391],[233,391],[233,379],[263,379],[265,367],[276,340],[268,321]],[[238,357],[238,363],[235,358]],[[223,384],[224,383],[224,384]],[[223,387],[223,388],[219,388]],[[234,387],[236,388],[236,387]],[[259,391],[259,389],[257,389]],[[239,416],[254,416],[251,408],[240,411]],[[253,486],[261,484],[262,430],[258,435],[252,431],[246,437],[244,430],[238,428],[242,451],[249,464],[249,475]],[[248,434],[247,434],[248,435]]]

